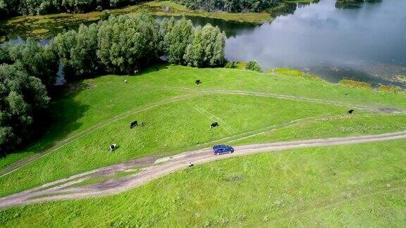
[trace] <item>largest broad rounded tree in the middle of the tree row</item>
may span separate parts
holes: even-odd
[[[99,23],[97,57],[107,72],[130,73],[158,57],[159,26],[152,15],[111,16]]]

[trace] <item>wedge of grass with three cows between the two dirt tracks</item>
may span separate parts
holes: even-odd
[[[1,178],[0,193],[4,196],[97,167],[149,155],[168,156],[234,134],[317,115],[339,115],[346,110],[266,97],[201,95],[97,129]],[[145,122],[146,126],[130,129],[133,120]],[[210,129],[211,122],[219,122],[220,127]],[[109,153],[107,146],[112,143],[120,148]]]

